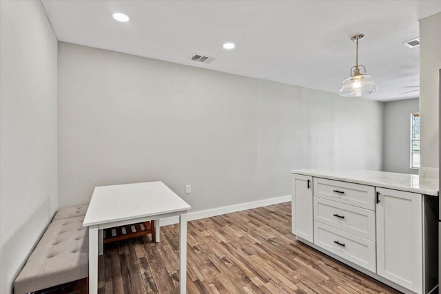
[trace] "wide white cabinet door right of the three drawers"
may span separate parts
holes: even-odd
[[[422,293],[422,195],[377,188],[377,273]]]

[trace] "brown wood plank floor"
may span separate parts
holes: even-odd
[[[291,202],[187,224],[187,293],[398,293],[291,233]],[[178,293],[178,226],[105,244],[99,293]]]

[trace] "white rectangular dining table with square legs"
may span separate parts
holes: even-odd
[[[98,291],[98,255],[103,254],[103,229],[179,216],[179,288],[185,293],[187,276],[187,210],[192,207],[163,182],[95,187],[83,225],[89,227],[89,293]]]

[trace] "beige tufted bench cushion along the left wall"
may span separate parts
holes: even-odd
[[[22,294],[89,276],[88,228],[84,216],[51,222],[14,282]]]

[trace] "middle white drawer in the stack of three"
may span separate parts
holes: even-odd
[[[375,242],[375,212],[314,197],[314,220]]]

